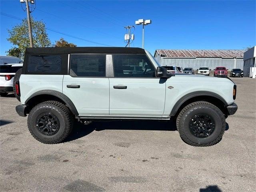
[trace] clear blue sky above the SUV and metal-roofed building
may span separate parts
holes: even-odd
[[[0,0],[0,11],[18,18],[26,12],[19,0]],[[125,46],[124,26],[140,18],[145,26],[145,49],[243,49],[256,45],[256,1],[55,1],[36,0],[36,20],[58,32],[110,46]],[[21,21],[0,15],[0,55],[12,44],[7,29]],[[50,40],[63,37],[77,46],[101,46],[47,30]],[[134,30],[132,47],[142,46],[142,26]]]

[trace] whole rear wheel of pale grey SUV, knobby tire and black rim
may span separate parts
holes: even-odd
[[[32,136],[45,144],[62,142],[72,131],[73,114],[57,101],[36,105],[28,115],[28,129]]]

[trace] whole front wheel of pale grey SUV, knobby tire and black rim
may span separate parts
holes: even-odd
[[[222,111],[209,102],[193,102],[182,109],[176,120],[180,137],[192,146],[211,146],[224,134]]]

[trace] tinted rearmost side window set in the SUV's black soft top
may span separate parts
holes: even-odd
[[[60,72],[61,62],[61,55],[30,55],[28,59],[28,72]]]

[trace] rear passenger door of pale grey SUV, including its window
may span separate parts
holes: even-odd
[[[63,93],[80,116],[109,115],[106,54],[70,54],[70,73],[64,75]]]

